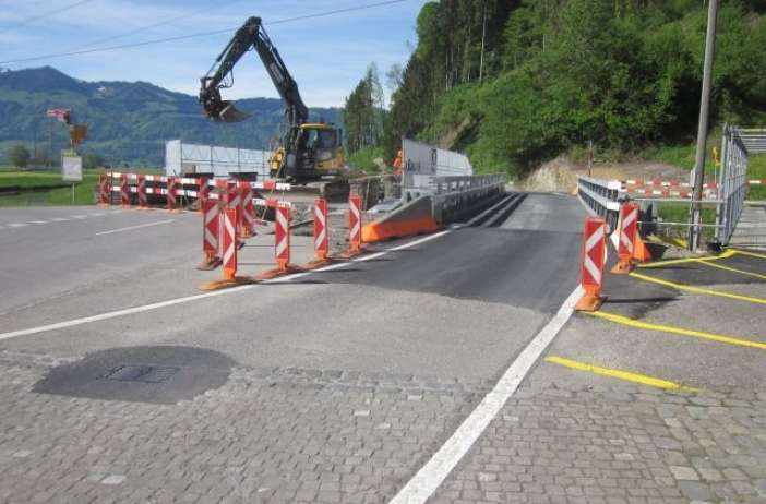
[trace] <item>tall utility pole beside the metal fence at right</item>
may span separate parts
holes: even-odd
[[[705,38],[705,67],[703,69],[702,101],[699,104],[699,129],[697,130],[697,156],[694,163],[694,192],[692,193],[689,250],[699,248],[702,227],[703,184],[705,183],[705,149],[707,148],[707,123],[710,115],[710,87],[713,86],[713,61],[716,57],[716,24],[718,22],[718,0],[708,0],[707,36]]]

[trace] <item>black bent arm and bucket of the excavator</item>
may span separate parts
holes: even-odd
[[[261,57],[268,76],[285,101],[287,123],[290,127],[297,127],[307,122],[309,109],[300,97],[298,84],[287,71],[279,52],[266,35],[261,17],[250,17],[244,22],[216,58],[207,74],[201,79],[200,104],[202,104],[205,115],[222,122],[239,122],[250,117],[250,115],[237,110],[234,101],[223,99],[220,89],[231,86],[227,82],[227,77],[231,74],[237,62],[251,48],[254,48]]]

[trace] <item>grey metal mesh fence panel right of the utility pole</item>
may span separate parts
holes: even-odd
[[[723,125],[721,141],[721,170],[718,179],[716,239],[723,244],[731,241],[742,216],[747,194],[747,156],[766,153],[766,130],[743,130]]]

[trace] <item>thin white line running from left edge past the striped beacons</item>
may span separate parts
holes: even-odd
[[[152,223],[152,224],[155,224],[155,223]],[[386,250],[382,251],[381,254],[384,255],[391,251],[404,250],[404,249],[408,249],[410,247],[416,247],[420,243],[424,243],[424,242],[430,241],[430,240],[435,240],[436,238],[444,236],[448,232],[451,232],[451,230],[438,232],[435,235],[430,235],[426,238],[410,241],[410,242],[405,243],[405,244],[399,245],[399,247],[394,247],[393,249],[386,249]],[[373,254],[373,255],[375,255],[375,254]],[[360,259],[362,259],[362,257],[360,257]],[[350,264],[350,262],[331,264],[330,266],[321,267],[321,268],[314,269],[313,272],[296,273],[292,275],[287,275],[284,277],[274,278],[273,280],[266,280],[266,281],[263,281],[262,284],[279,284],[279,283],[285,283],[285,281],[291,281],[291,280],[298,279],[298,278],[302,278],[304,276],[311,275],[312,273],[315,273],[315,272],[328,272],[332,269],[337,269],[339,267],[346,266],[348,264]],[[205,293],[195,295],[195,296],[187,296],[184,298],[169,299],[166,301],[159,301],[159,302],[152,303],[152,304],[144,304],[142,307],[127,308],[124,310],[106,312],[106,313],[101,313],[98,315],[83,316],[81,319],[73,319],[71,321],[58,322],[58,323],[48,324],[48,325],[40,325],[38,327],[29,327],[27,329],[12,331],[10,333],[0,333],[0,340],[15,338],[17,336],[29,336],[32,334],[39,334],[39,333],[47,333],[50,331],[63,329],[67,327],[73,327],[75,325],[88,324],[91,322],[99,322],[99,321],[106,321],[109,319],[117,319],[118,316],[133,315],[135,313],[142,313],[142,312],[147,312],[147,311],[152,311],[152,310],[157,310],[160,308],[172,307],[175,304],[182,304],[182,303],[190,302],[190,301],[196,301],[199,299],[206,299],[206,298],[213,298],[216,296],[224,296],[224,295],[228,295],[228,293],[241,292],[243,290],[250,290],[252,288],[255,288],[259,285],[260,284],[251,284],[251,285],[244,285],[244,286],[240,286],[240,287],[232,287],[230,289],[225,289],[225,290],[216,290],[213,292],[205,292]]]

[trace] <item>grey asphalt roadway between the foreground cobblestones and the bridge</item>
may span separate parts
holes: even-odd
[[[87,217],[52,221],[57,215]],[[241,365],[492,379],[574,288],[582,217],[571,197],[532,194],[498,227],[454,229],[295,283],[11,338],[0,348],[74,357],[187,345]],[[9,227],[32,220],[49,224]],[[219,275],[193,269],[193,214],[7,211],[1,225],[5,332],[193,296]],[[298,262],[301,250],[309,259],[300,238]],[[267,267],[272,239],[249,242],[246,271]]]

